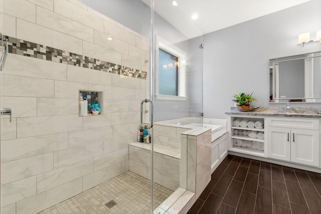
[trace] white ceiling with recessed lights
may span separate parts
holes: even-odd
[[[150,0],[141,0],[150,7]],[[187,38],[194,38],[310,0],[154,0],[154,11]],[[199,18],[192,20],[194,13]]]

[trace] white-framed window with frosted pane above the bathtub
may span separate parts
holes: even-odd
[[[186,100],[186,53],[156,36],[156,99]]]

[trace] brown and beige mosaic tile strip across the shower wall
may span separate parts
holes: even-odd
[[[68,51],[51,48],[45,45],[40,45],[13,37],[6,36],[6,38],[9,41],[8,47],[9,53],[11,54],[58,62],[82,68],[89,68],[97,71],[104,71],[143,80],[145,80],[147,76],[147,72],[134,68],[128,68],[122,65],[74,54]]]

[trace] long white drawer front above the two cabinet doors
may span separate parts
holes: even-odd
[[[303,128],[303,129],[319,129],[318,119],[289,119],[289,118],[266,118],[267,126],[287,127],[287,128]]]

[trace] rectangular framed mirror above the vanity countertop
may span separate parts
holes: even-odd
[[[270,103],[321,102],[321,52],[270,60]]]

